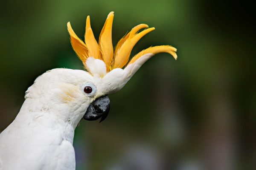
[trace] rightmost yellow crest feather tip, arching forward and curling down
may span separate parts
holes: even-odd
[[[159,46],[154,46],[154,47],[149,47],[143,51],[140,51],[138,54],[136,54],[131,61],[128,63],[132,64],[134,63],[137,59],[139,59],[141,56],[152,53],[152,54],[158,54],[158,53],[169,53],[171,54],[175,60],[177,59],[177,54],[176,54],[177,49],[172,47],[171,45],[159,45]]]

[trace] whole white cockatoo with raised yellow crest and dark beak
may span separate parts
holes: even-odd
[[[110,12],[99,42],[89,16],[85,42],[67,23],[71,45],[86,71],[55,68],[35,79],[17,117],[0,133],[0,170],[75,170],[73,137],[79,121],[104,120],[110,109],[108,95],[123,88],[155,54],[166,52],[177,59],[176,48],[160,45],[139,52],[129,61],[134,45],[155,28],[135,26],[113,50],[113,17]]]

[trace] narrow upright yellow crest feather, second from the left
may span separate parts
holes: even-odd
[[[99,45],[93,35],[93,30],[90,26],[90,16],[86,18],[84,41],[88,47],[88,56],[94,57],[95,59],[100,58]]]

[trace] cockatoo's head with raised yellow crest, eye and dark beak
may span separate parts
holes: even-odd
[[[45,101],[53,101],[64,119],[77,124],[82,117],[86,120],[101,121],[110,109],[108,95],[116,93],[131,79],[135,72],[152,56],[169,53],[177,59],[176,48],[170,45],[149,47],[130,58],[134,45],[154,28],[140,24],[119,40],[116,48],[112,45],[112,23],[114,13],[110,12],[97,42],[87,16],[84,41],[73,31],[70,22],[67,29],[71,45],[84,65],[85,71],[58,68],[48,71],[35,80],[26,98],[47,96]],[[143,31],[140,31],[142,30]],[[139,32],[140,31],[140,32]],[[46,81],[47,80],[47,81]],[[37,89],[37,90],[35,90]],[[40,90],[38,90],[40,89]],[[47,95],[44,95],[46,89]]]

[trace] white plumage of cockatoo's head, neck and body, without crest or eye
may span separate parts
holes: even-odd
[[[75,170],[74,130],[88,105],[86,71],[53,69],[26,92],[15,120],[0,133],[0,170]]]

